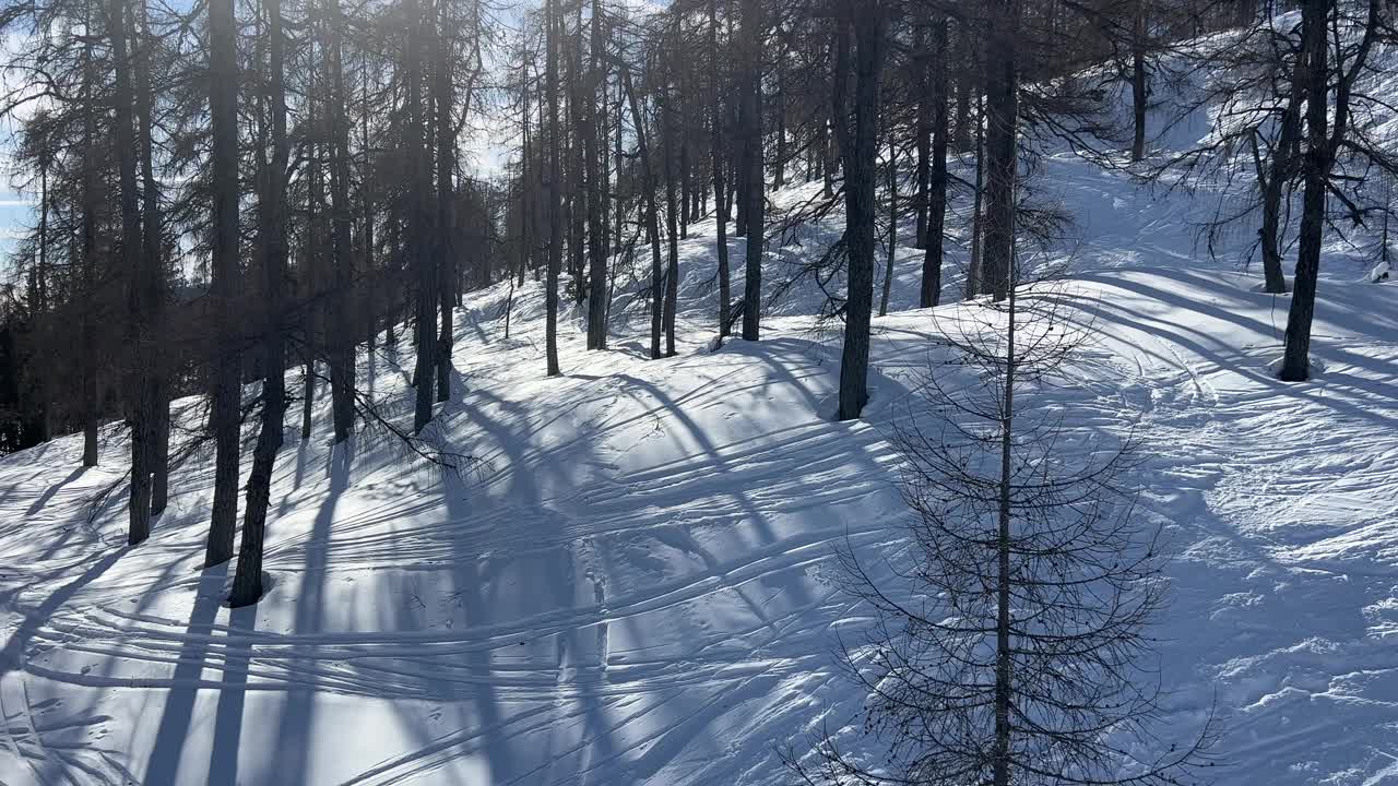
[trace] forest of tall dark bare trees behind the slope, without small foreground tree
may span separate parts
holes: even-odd
[[[1388,11],[1380,0],[1300,7],[1295,29],[1272,27],[1229,55],[1246,78],[1233,92],[1265,94],[1234,137],[1257,159],[1272,291],[1285,288],[1278,204],[1304,192],[1283,379],[1307,376],[1325,197],[1343,200],[1336,162],[1392,166],[1348,127]],[[414,334],[405,439],[452,394],[453,309],[470,288],[545,281],[548,375],[575,371],[558,359],[562,299],[586,303],[587,345],[603,350],[618,287],[635,288],[630,308],[649,309],[650,355],[674,354],[675,243],[710,215],[714,326],[727,336],[741,320],[742,338],[759,340],[763,253],[783,221],[800,220],[773,217],[768,196],[793,180],[823,183],[822,204],[805,211],[843,207],[844,235],[818,266],[846,283],[829,305],[844,326],[837,417],[857,418],[878,227],[896,228],[885,211],[916,217],[920,301],[931,306],[944,296],[948,204],[972,204],[962,294],[1005,298],[1016,245],[1035,231],[1016,217],[1021,140],[1058,134],[1132,165],[1148,154],[1151,97],[1181,67],[1165,66],[1174,45],[1281,10],[1208,0],[677,0],[663,10],[212,0],[192,13],[141,0],[10,3],[4,27],[31,45],[10,63],[3,109],[17,126],[17,182],[38,207],[8,273],[6,446],[82,431],[92,464],[98,429],[123,422],[134,544],[165,506],[180,459],[172,446],[211,441],[212,564],[233,555],[240,434],[256,421],[242,505],[253,555],[240,561],[256,569],[282,415],[299,401],[310,436],[309,401],[329,385],[331,435],[348,439],[370,406],[355,387],[363,352],[396,344],[400,329]],[[1331,41],[1342,25],[1364,32]],[[1089,71],[1104,76],[1081,76]],[[482,166],[482,155],[503,168]],[[948,155],[973,158],[974,182],[952,178]],[[741,266],[730,263],[728,235],[742,239]],[[649,274],[630,269],[639,245]],[[886,291],[881,301],[882,312]],[[250,400],[245,386],[257,380]],[[169,403],[192,394],[207,399],[207,417],[172,424]]]

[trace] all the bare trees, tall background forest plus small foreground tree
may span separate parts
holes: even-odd
[[[1162,554],[1116,487],[1130,445],[1093,442],[1096,463],[1075,464],[1033,410],[1078,348],[1057,292],[1028,274],[1068,222],[1033,178],[1057,145],[1148,189],[1222,182],[1201,236],[1247,238],[1233,262],[1258,263],[1286,312],[1272,373],[1307,382],[1325,242],[1381,221],[1387,253],[1391,204],[1362,190],[1398,178],[1370,136],[1383,99],[1366,90],[1398,42],[1395,13],[1392,0],[0,0],[0,32],[18,42],[0,97],[8,175],[34,194],[0,264],[0,453],[82,434],[82,467],[124,473],[106,494],[129,548],[161,531],[178,470],[208,457],[204,565],[235,565],[228,601],[246,607],[267,590],[274,477],[298,435],[471,466],[438,421],[466,385],[453,358],[471,351],[456,345],[471,292],[507,290],[509,337],[514,292],[541,290],[541,385],[587,379],[580,358],[621,351],[611,331],[629,320],[647,329],[635,352],[661,361],[693,330],[677,317],[692,263],[681,242],[712,224],[714,255],[691,287],[713,296],[710,351],[763,341],[773,303],[814,280],[818,323],[840,336],[821,417],[857,421],[878,393],[871,336],[902,243],[917,250],[918,308],[983,309],[942,345],[981,387],[930,376],[921,392],[956,413],[951,425],[893,438],[918,604],[854,565],[877,656],[844,655],[871,696],[865,731],[893,755],[870,766],[818,734],[793,775],[1176,783],[1208,765],[1212,716],[1127,775],[1104,741],[1159,708],[1162,692],[1134,680],[1166,603]],[[1225,117],[1215,131],[1156,144],[1209,108]],[[788,241],[832,217],[828,248],[774,278]],[[561,352],[575,329],[587,351]],[[398,410],[366,385],[380,357],[411,378]],[[113,443],[120,456],[102,452]]]

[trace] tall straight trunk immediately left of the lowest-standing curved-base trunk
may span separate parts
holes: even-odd
[[[233,324],[240,294],[238,267],[238,25],[233,0],[208,1],[208,84],[212,123],[212,285],[218,343],[214,359],[214,510],[204,562],[233,555],[238,524],[242,352]]]

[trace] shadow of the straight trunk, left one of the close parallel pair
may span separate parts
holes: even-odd
[[[194,608],[190,611],[185,643],[176,659],[171,688],[165,695],[165,708],[155,730],[155,744],[145,759],[147,786],[164,786],[179,779],[179,762],[189,740],[190,723],[194,716],[194,702],[199,698],[199,683],[208,659],[208,648],[214,629],[214,618],[222,604],[224,579],[228,576],[228,562],[204,569],[199,590],[194,594]]]

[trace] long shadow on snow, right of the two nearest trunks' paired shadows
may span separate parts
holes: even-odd
[[[326,554],[330,545],[330,526],[336,505],[350,487],[350,466],[354,462],[354,439],[336,445],[330,452],[330,488],[312,524],[310,540],[305,544],[305,564],[296,590],[296,617],[292,632],[315,634],[324,622]],[[295,656],[291,656],[295,660]],[[294,666],[289,663],[288,667]],[[313,670],[305,670],[306,683],[291,688],[277,720],[277,750],[270,759],[278,778],[285,783],[302,783],[309,768],[310,736],[315,726],[316,684]]]

